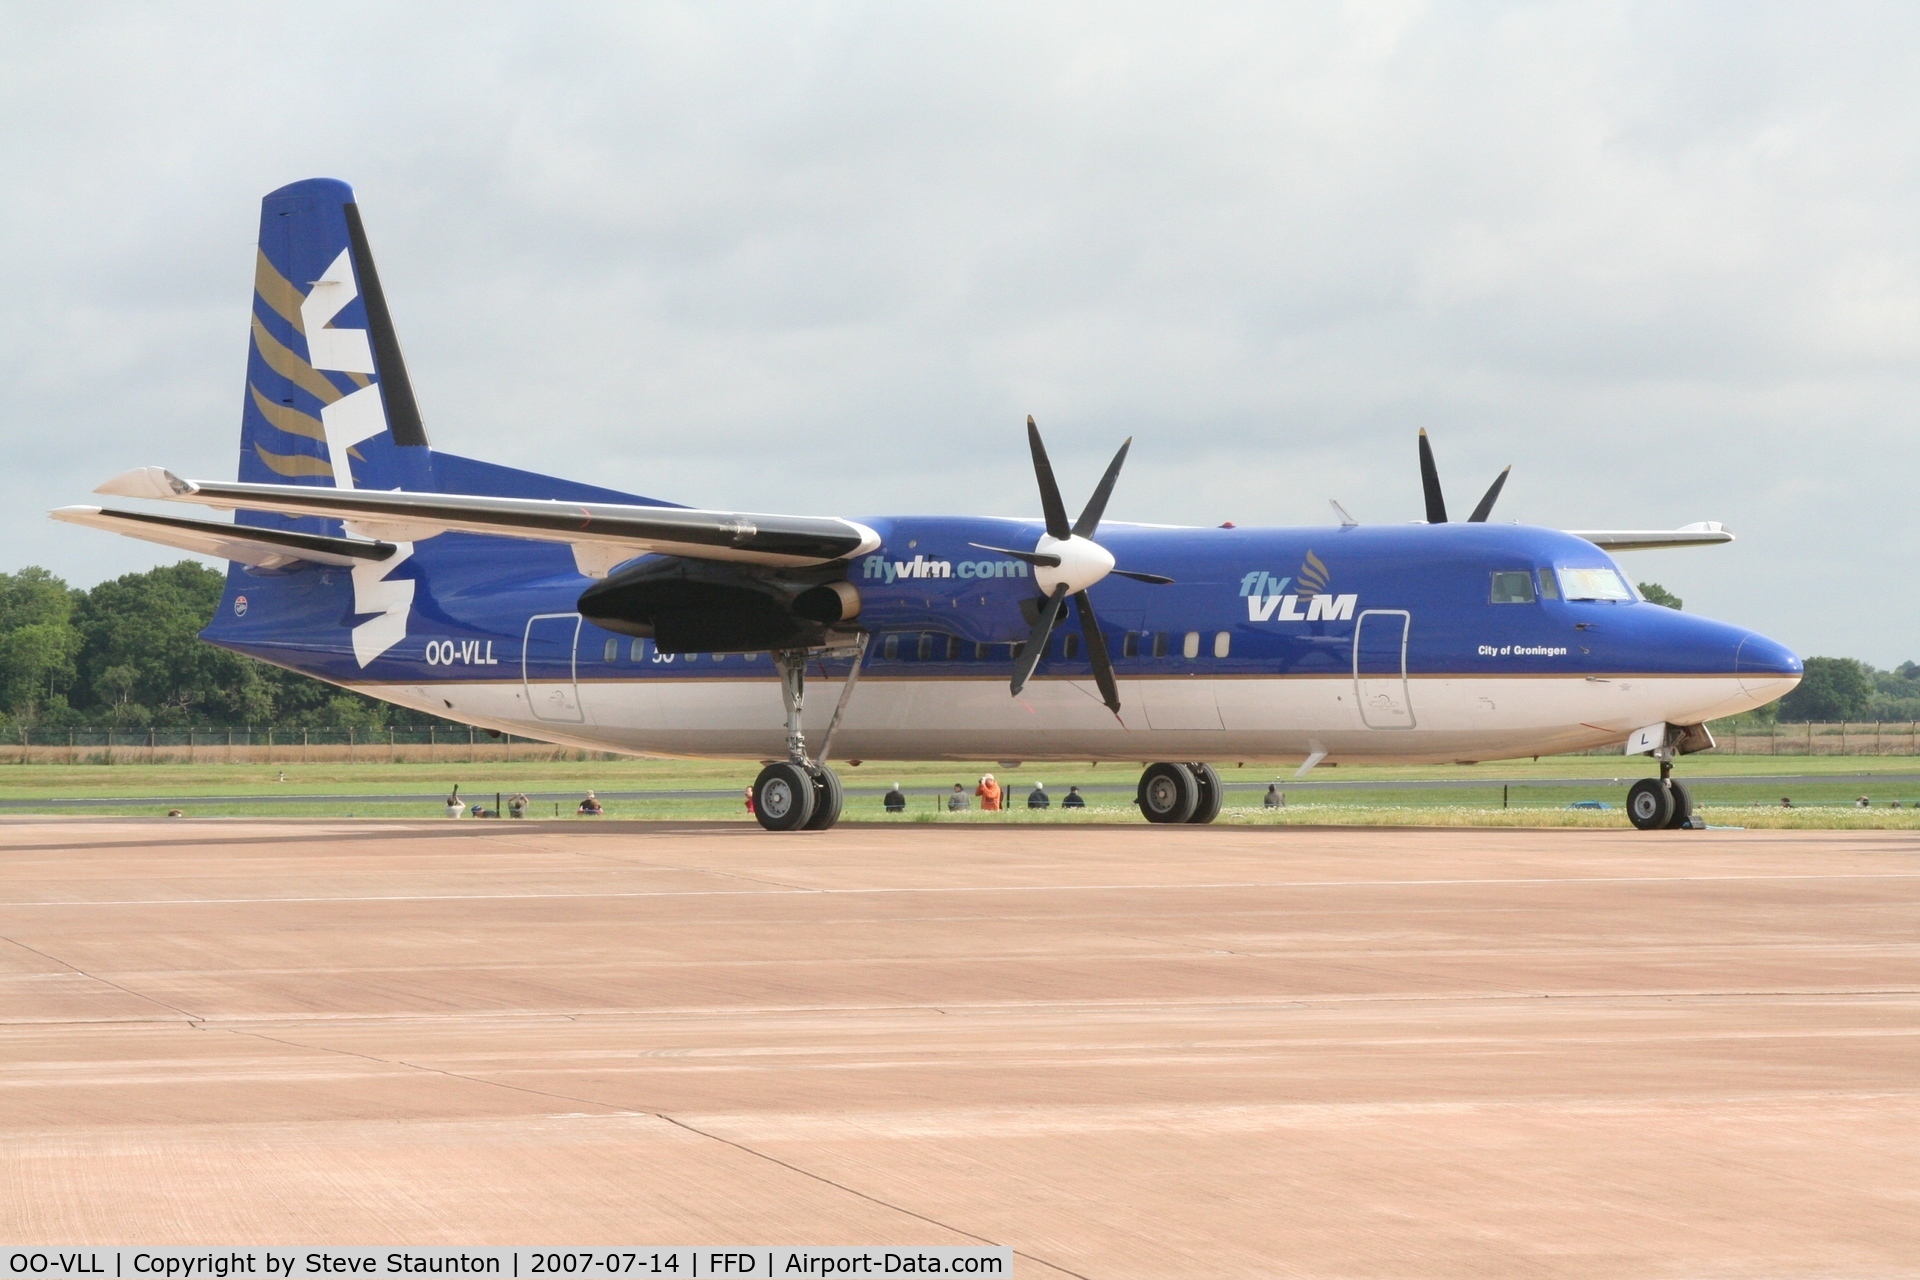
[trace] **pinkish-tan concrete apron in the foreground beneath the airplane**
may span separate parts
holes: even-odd
[[[0,1240],[1912,1274],[1920,839],[6,819]]]

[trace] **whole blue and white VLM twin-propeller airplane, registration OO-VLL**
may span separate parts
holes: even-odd
[[[447,453],[353,190],[309,178],[261,201],[236,480],[144,466],[96,489],[234,518],[52,516],[227,558],[213,645],[495,733],[760,758],[770,831],[839,819],[831,750],[1140,764],[1148,821],[1206,823],[1206,760],[1599,747],[1659,762],[1626,810],[1672,829],[1693,808],[1674,760],[1801,677],[1772,639],[1642,601],[1609,557],[1732,541],[1718,524],[1494,524],[1507,472],[1448,520],[1425,432],[1425,522],[1334,503],[1313,528],[1108,522],[1131,441],[1069,520],[1033,418],[1027,443],[1039,518],[695,509]]]

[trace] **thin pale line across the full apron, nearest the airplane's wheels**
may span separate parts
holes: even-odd
[[[728,875],[701,871],[701,875]],[[1836,871],[1807,875],[1517,875],[1434,881],[1225,881],[1204,885],[900,885],[876,889],[632,889],[551,894],[380,894],[309,898],[56,898],[0,902],[0,912],[50,906],[275,906],[300,902],[551,902],[580,898],[756,898],[756,896],[877,896],[877,894],[998,894],[998,892],[1202,892],[1217,889],[1434,889],[1446,885],[1716,885],[1772,881],[1912,881],[1920,871]]]

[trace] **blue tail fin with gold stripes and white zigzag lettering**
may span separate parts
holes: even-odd
[[[307,178],[261,200],[246,372],[240,480],[432,487],[426,428],[346,182]]]

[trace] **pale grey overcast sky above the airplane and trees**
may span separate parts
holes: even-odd
[[[1724,520],[1920,658],[1920,10],[0,4],[6,555],[232,476],[259,198],[357,190],[436,447],[682,503]]]

